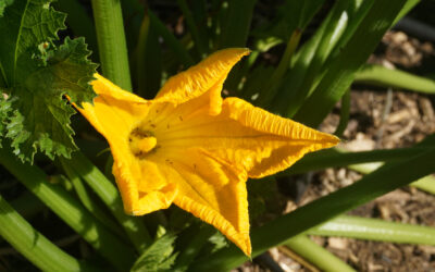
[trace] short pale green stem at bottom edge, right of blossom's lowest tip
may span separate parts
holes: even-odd
[[[284,245],[322,271],[355,271],[346,262],[338,259],[303,234],[286,240]]]

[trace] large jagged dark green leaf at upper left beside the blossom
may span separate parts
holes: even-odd
[[[97,67],[87,58],[84,39],[71,40],[57,48],[58,32],[65,14],[50,8],[50,0],[14,1],[0,17],[0,70],[12,110],[1,111],[7,129],[0,136],[12,139],[14,153],[33,161],[37,150],[49,158],[70,157],[76,149],[70,127],[72,102],[90,101],[88,85]]]

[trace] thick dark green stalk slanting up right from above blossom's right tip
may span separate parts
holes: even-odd
[[[295,115],[310,126],[318,126],[353,81],[355,73],[373,52],[384,33],[391,26],[406,0],[377,0],[363,18],[341,53]]]

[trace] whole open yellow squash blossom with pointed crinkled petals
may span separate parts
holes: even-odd
[[[98,97],[78,110],[110,144],[127,213],[175,203],[250,256],[248,177],[274,174],[338,139],[241,99],[222,99],[227,74],[248,53],[213,53],[170,78],[153,100],[96,74]]]

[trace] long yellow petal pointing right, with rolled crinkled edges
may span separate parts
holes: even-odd
[[[238,98],[225,99],[222,112],[210,115],[208,106],[201,106],[207,96],[179,104],[166,119],[171,126],[158,127],[156,135],[163,148],[203,148],[250,177],[263,177],[290,166],[307,152],[339,141]]]

